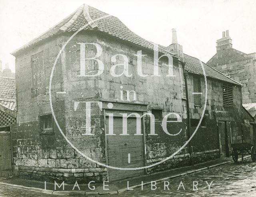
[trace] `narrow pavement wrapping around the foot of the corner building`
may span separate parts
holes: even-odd
[[[74,184],[70,185],[66,183],[65,183],[64,191],[62,190],[62,188],[59,189],[58,187],[56,188],[56,190],[54,190],[54,182],[46,182],[46,190],[45,190],[44,181],[21,179],[17,177],[0,178],[0,191],[1,191],[1,186],[5,186],[5,188],[12,187],[15,189],[28,190],[30,191],[30,193],[40,192],[42,193],[42,195],[43,193],[46,195],[61,194],[61,195],[73,195],[73,196],[102,195],[102,194],[115,195],[115,194],[130,192],[130,191],[127,191],[128,181],[129,181],[129,190],[131,189],[136,190],[136,188],[141,190],[142,181],[143,181],[143,187],[147,188],[151,184],[151,181],[162,183],[163,181],[177,179],[178,177],[183,177],[183,176],[190,175],[192,173],[197,173],[200,171],[207,171],[209,169],[213,169],[215,167],[218,167],[224,164],[231,164],[231,163],[233,163],[232,158],[221,158],[221,159],[217,159],[209,162],[204,162],[201,164],[196,164],[196,165],[191,165],[191,166],[181,167],[176,169],[170,169],[168,171],[163,171],[163,172],[153,173],[150,175],[143,175],[140,177],[134,177],[131,179],[108,183],[108,186],[106,186],[106,188],[108,188],[109,190],[103,190],[103,184],[96,184],[96,183],[92,184],[95,186],[95,190],[90,190],[87,184],[79,184],[79,183],[78,184],[79,184],[80,190],[78,190],[78,187],[75,187],[74,190],[72,190],[74,187]],[[252,165],[255,165],[255,163],[252,163]],[[57,182],[57,183],[59,185],[61,184],[61,182]],[[137,196],[137,195],[132,194],[131,196]],[[146,196],[149,196],[149,194]],[[160,196],[162,196],[162,194]]]

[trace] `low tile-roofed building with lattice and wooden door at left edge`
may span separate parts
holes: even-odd
[[[16,124],[15,79],[0,77],[0,177],[12,175],[10,130]]]

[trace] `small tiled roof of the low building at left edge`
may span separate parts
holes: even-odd
[[[0,77],[0,104],[10,110],[15,110],[16,84],[14,78]]]

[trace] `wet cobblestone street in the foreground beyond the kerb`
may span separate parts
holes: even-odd
[[[154,181],[154,180],[152,180]],[[181,184],[182,181],[182,184]],[[195,188],[193,191],[193,181]],[[210,190],[208,184],[212,182]],[[243,163],[238,162],[221,165],[219,167],[210,168],[208,170],[192,173],[182,177],[171,179],[165,183],[157,183],[156,187],[146,185],[141,188],[136,188],[132,191],[126,191],[118,195],[103,195],[106,197],[122,196],[122,197],[148,197],[148,196],[253,196],[256,197],[256,163],[247,158]],[[180,185],[179,190],[178,187]],[[132,184],[130,184],[132,186]],[[154,190],[155,189],[155,190]],[[185,190],[184,190],[185,189]],[[0,197],[48,197],[50,194],[27,191],[23,189],[12,188],[0,185]],[[55,195],[52,195],[55,196]],[[67,197],[68,195],[61,195]]]

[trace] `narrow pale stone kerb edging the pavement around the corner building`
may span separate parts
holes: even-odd
[[[249,158],[249,157],[250,156],[246,156],[246,157],[244,157],[244,159],[245,158]],[[240,158],[238,160],[242,160],[242,159]],[[158,183],[158,182],[174,179],[176,177],[180,177],[180,176],[183,176],[183,175],[187,175],[187,174],[195,173],[195,172],[198,172],[198,171],[206,170],[206,169],[209,169],[209,168],[217,167],[217,166],[220,166],[220,165],[229,164],[229,163],[232,163],[232,162],[233,162],[232,160],[231,161],[226,161],[226,162],[222,162],[222,163],[219,163],[219,164],[210,165],[210,166],[207,166],[207,167],[202,167],[200,169],[195,169],[195,170],[187,171],[187,172],[184,172],[184,173],[180,173],[178,175],[174,175],[174,176],[171,176],[171,177],[165,177],[165,178],[158,179],[158,180],[155,180],[155,181]],[[143,185],[149,185],[149,184],[151,184],[151,182],[143,183]],[[118,189],[117,191],[111,191],[111,192],[98,192],[98,191],[53,191],[53,190],[40,189],[40,188],[36,188],[36,187],[25,187],[25,186],[22,186],[22,185],[14,185],[14,184],[3,183],[3,182],[0,182],[0,185],[5,185],[5,186],[8,186],[8,187],[20,188],[20,189],[25,189],[25,190],[35,191],[35,192],[47,193],[47,194],[56,194],[56,195],[105,195],[105,194],[123,193],[125,191],[128,191],[127,188],[122,188],[122,189]],[[141,187],[141,184],[130,186],[129,188],[134,189],[134,188],[137,188],[137,187]]]

